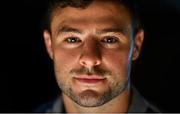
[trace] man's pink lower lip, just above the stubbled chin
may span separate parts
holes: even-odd
[[[104,81],[104,79],[85,79],[85,78],[75,78],[77,81],[82,82],[82,83],[89,83],[89,84],[94,84],[98,82]]]

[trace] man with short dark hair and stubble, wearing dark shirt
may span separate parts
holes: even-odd
[[[56,0],[43,36],[62,95],[37,112],[157,112],[130,84],[144,39],[131,0]]]

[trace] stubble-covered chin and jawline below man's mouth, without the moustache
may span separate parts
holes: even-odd
[[[95,90],[87,89],[81,93],[76,93],[71,87],[60,84],[62,92],[72,101],[82,107],[98,107],[109,102],[120,95],[128,86],[129,80],[109,87],[106,91],[99,93]]]

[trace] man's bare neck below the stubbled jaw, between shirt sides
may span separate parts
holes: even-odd
[[[119,96],[98,107],[82,107],[65,94],[63,94],[63,100],[67,113],[125,113],[128,111],[130,91],[126,89]]]

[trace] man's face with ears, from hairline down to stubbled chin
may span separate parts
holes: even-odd
[[[55,10],[52,34],[45,31],[44,38],[64,95],[95,107],[123,92],[143,39],[133,46],[131,24],[126,8],[111,2]]]

